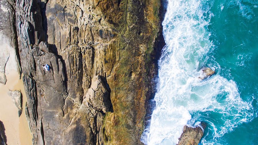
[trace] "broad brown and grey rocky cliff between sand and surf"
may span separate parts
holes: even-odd
[[[162,47],[160,1],[6,4],[33,144],[142,144]]]

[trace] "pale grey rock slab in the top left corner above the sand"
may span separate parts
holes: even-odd
[[[20,74],[15,9],[12,1],[0,1],[0,83],[6,83],[5,74],[13,71]],[[18,54],[19,55],[19,54]]]

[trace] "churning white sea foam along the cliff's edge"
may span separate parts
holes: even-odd
[[[248,112],[251,104],[241,100],[233,80],[228,81],[219,73],[203,81],[198,79],[204,62],[213,59],[206,55],[213,48],[207,29],[213,14],[203,3],[168,1],[162,23],[166,46],[159,60],[156,107],[142,134],[144,144],[177,144],[183,126],[197,126],[200,121],[209,124],[213,136],[211,140],[204,138],[202,143],[212,144],[252,115]],[[216,62],[206,65],[220,72]],[[217,113],[218,118],[210,116],[212,113]]]

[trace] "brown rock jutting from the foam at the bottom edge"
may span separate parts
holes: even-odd
[[[202,128],[200,126],[191,128],[185,125],[178,145],[198,145],[203,136],[203,130],[206,128],[206,124],[202,122],[201,126]]]

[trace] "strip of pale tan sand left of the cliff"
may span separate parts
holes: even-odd
[[[25,103],[27,101],[22,79],[19,79],[17,72],[6,75],[7,82],[5,85],[0,84],[0,120],[5,127],[7,144],[9,145],[31,145],[32,134],[26,119]],[[20,90],[22,93],[22,113],[18,117],[18,109],[12,102],[7,92],[10,90]]]

